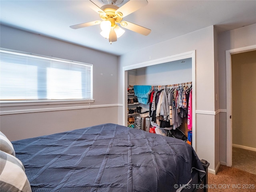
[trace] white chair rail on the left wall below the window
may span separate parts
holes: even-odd
[[[6,110],[6,111],[1,111],[0,115],[49,112],[49,111],[63,111],[63,110],[78,110],[78,109],[116,107],[116,106],[122,106],[122,105],[120,105],[120,104],[106,104],[106,105],[88,105],[88,106],[76,106],[76,107],[73,106],[73,107],[40,108],[40,109],[27,109],[27,110]]]

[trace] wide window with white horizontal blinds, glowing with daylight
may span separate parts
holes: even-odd
[[[92,100],[92,65],[1,49],[0,99]]]

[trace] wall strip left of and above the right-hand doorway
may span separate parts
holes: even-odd
[[[220,162],[226,164],[226,50],[256,45],[256,24],[218,35],[219,105],[220,105]]]

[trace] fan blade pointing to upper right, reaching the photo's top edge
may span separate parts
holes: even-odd
[[[136,10],[146,6],[148,4],[147,0],[130,0],[126,4],[124,4],[122,7],[118,8],[116,10],[116,15],[118,17],[125,17]]]

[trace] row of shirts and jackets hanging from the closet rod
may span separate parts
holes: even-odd
[[[152,126],[168,128],[169,130],[181,126],[182,118],[188,116],[191,86],[184,83],[175,85],[171,89],[167,86],[151,87],[148,92],[148,103]],[[158,88],[161,88],[161,90],[158,90]],[[192,105],[192,100],[190,104]]]

